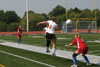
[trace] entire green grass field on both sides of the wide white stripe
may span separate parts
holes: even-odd
[[[99,34],[81,34],[81,36],[83,37],[83,39],[86,41],[86,43],[89,46],[89,54],[100,56],[100,53],[99,53],[100,44],[96,42],[87,42],[87,41],[100,40],[99,38],[100,35]],[[74,39],[74,35],[72,34],[57,34],[57,49],[75,51],[76,48],[65,47],[65,44],[69,44],[70,42],[72,42],[73,39]],[[16,35],[0,36],[0,40],[17,42],[17,36]],[[31,35],[31,36],[23,35],[22,43],[45,47],[45,38],[44,38],[44,35]],[[2,51],[8,54],[3,53]],[[70,59],[54,57],[51,55],[45,55],[41,53],[36,53],[36,52],[31,52],[31,51],[26,51],[22,49],[11,48],[11,47],[0,45],[0,60],[1,60],[0,64],[4,65],[5,67],[48,67],[40,63],[32,62],[20,57],[9,55],[9,53],[17,55],[17,56],[25,57],[31,60],[36,60],[42,63],[46,63],[48,65],[53,65],[55,67],[70,67],[73,64],[73,61]],[[79,62],[79,61],[78,61],[78,65],[80,67],[100,67],[94,64],[92,64],[91,66],[86,66],[86,63]]]

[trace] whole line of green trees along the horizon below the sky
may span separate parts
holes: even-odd
[[[49,20],[49,16],[55,16],[57,19],[57,24],[59,30],[61,29],[62,23],[66,21],[66,9],[63,6],[57,5],[53,8],[48,14],[45,13],[35,13],[34,11],[29,11],[29,30],[30,31],[39,31],[42,30],[45,25],[36,26],[36,23],[39,21]],[[97,13],[97,25],[100,26],[100,10],[96,9]],[[79,8],[70,8],[68,10],[69,18],[94,18],[95,10],[79,9]],[[4,11],[0,10],[0,32],[6,31],[17,31],[19,25],[26,30],[26,12],[24,16],[19,17],[15,11]]]

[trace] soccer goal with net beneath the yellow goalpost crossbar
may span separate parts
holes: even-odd
[[[72,21],[71,24],[64,22],[62,24],[62,32],[80,32],[80,33],[96,33],[97,22],[96,21]]]

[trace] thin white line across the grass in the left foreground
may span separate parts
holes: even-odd
[[[4,53],[4,54],[7,54],[7,55],[10,55],[10,56],[14,56],[14,57],[17,57],[17,58],[21,58],[21,59],[24,59],[24,60],[28,60],[28,61],[31,61],[31,62],[35,62],[35,63],[38,63],[38,64],[42,64],[42,65],[45,65],[45,66],[48,66],[48,67],[55,67],[55,66],[50,65],[50,64],[46,64],[46,63],[43,63],[43,62],[39,62],[39,61],[36,61],[36,60],[33,60],[33,59],[29,59],[29,58],[26,58],[26,57],[23,57],[23,56],[19,56],[19,55],[16,55],[16,54],[8,53],[8,52],[2,51],[2,50],[0,50],[0,52],[1,53]]]

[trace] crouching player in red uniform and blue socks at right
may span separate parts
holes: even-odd
[[[84,40],[80,37],[80,34],[75,34],[75,39],[73,40],[72,43],[70,43],[69,45],[65,45],[66,47],[72,46],[77,44],[78,49],[75,51],[75,53],[73,53],[73,62],[74,65],[72,65],[71,67],[77,67],[77,59],[76,56],[79,55],[80,53],[82,54],[83,58],[85,59],[85,61],[87,62],[87,65],[91,65],[88,57],[85,55],[88,53],[88,46],[86,45],[86,43],[84,42]]]

